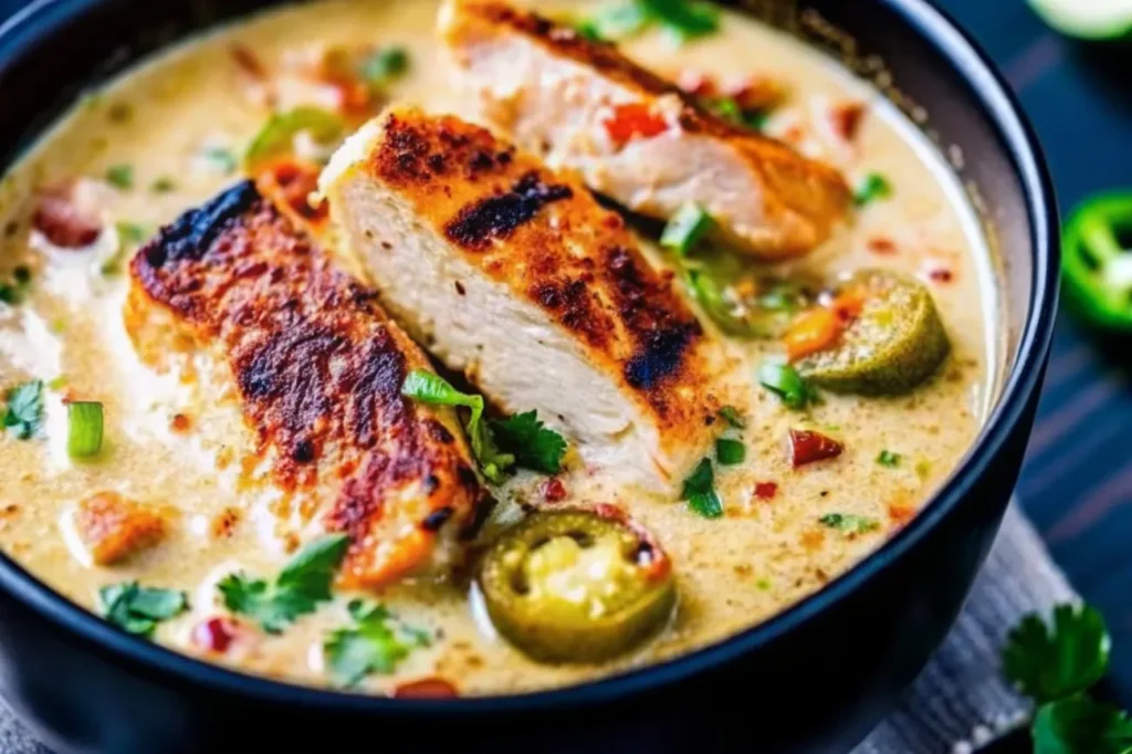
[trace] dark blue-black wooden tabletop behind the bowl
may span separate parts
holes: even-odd
[[[938,0],[998,62],[1045,146],[1063,207],[1132,188],[1132,44],[1094,48],[1046,28],[1023,0]],[[0,0],[0,18],[23,6]],[[1114,633],[1114,686],[1132,703],[1132,342],[1062,316],[1019,487],[1054,556]]]

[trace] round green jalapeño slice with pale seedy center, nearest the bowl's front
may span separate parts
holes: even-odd
[[[496,628],[542,662],[598,662],[629,651],[671,615],[667,556],[614,515],[540,511],[508,530],[480,566]]]

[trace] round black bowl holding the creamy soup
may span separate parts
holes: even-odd
[[[0,171],[84,87],[268,5],[33,2],[0,28]],[[1002,262],[1007,367],[993,417],[926,509],[820,593],[734,639],[598,683],[498,699],[370,699],[230,672],[119,632],[0,557],[0,694],[49,745],[820,753],[848,751],[882,719],[952,625],[1018,477],[1056,310],[1053,189],[1002,79],[924,0],[740,5],[841,57],[910,110],[923,105],[925,128],[962,154],[962,178],[983,197]]]

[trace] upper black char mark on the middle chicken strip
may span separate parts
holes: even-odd
[[[477,152],[470,164],[477,170],[488,170],[482,162],[484,155],[484,151]],[[509,238],[516,228],[533,220],[546,205],[572,196],[574,192],[568,186],[548,186],[539,180],[537,172],[531,171],[518,179],[511,191],[461,209],[448,223],[445,233],[466,249],[482,251],[492,241]]]

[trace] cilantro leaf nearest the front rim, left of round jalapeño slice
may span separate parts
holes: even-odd
[[[417,646],[428,646],[428,632],[397,623],[381,605],[354,600],[354,625],[331,633],[323,644],[326,665],[340,686],[357,686],[370,674],[387,675]]]

